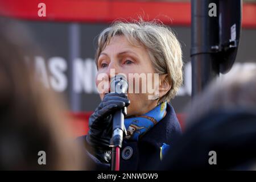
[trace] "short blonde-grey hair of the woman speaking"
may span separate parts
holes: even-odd
[[[96,65],[100,53],[109,44],[113,36],[123,35],[132,45],[142,45],[150,56],[155,72],[168,74],[167,82],[171,89],[159,102],[170,101],[183,82],[183,60],[179,41],[170,27],[156,20],[144,22],[133,20],[131,23],[115,21],[98,36],[98,48],[95,55]]]

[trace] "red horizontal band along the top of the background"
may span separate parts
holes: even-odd
[[[40,3],[46,16],[39,16]],[[113,0],[0,0],[0,15],[28,20],[110,23],[119,18],[162,20],[165,24],[190,26],[190,2],[143,2]],[[242,26],[256,28],[256,4],[244,3]]]

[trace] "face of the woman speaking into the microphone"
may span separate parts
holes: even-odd
[[[154,68],[148,56],[147,50],[138,46],[131,45],[125,36],[114,36],[110,43],[101,52],[98,58],[98,75],[106,73],[110,80],[110,69],[114,69],[115,75],[118,73],[124,73],[129,78],[129,73],[151,73],[154,76]],[[112,75],[113,76],[113,75]],[[96,85],[102,81],[96,77]],[[108,81],[109,81],[108,80]],[[131,82],[129,81],[129,87]],[[148,80],[147,80],[148,81]],[[154,78],[152,79],[154,82]],[[154,86],[154,83],[152,83]],[[143,86],[146,86],[143,82]],[[133,79],[133,88],[135,89],[135,80]],[[142,81],[139,81],[139,88],[142,88]],[[146,87],[147,88],[147,87]],[[109,88],[107,92],[109,91]],[[133,90],[134,91],[134,90]],[[147,90],[148,91],[148,90]],[[149,100],[148,96],[154,95],[154,93],[143,92],[139,89],[139,93],[128,92],[128,98],[131,104],[127,107],[127,116],[137,116],[147,113],[157,105],[157,101]],[[105,96],[105,93],[100,93],[101,99]]]

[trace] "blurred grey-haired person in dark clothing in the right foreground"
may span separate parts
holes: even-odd
[[[159,169],[256,169],[255,78],[255,68],[230,72],[194,98],[189,127]]]

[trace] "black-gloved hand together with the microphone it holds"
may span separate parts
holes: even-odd
[[[89,118],[89,132],[86,137],[86,142],[89,144],[87,144],[88,151],[103,163],[109,163],[111,159],[110,139],[113,133],[113,118],[115,118],[114,127],[125,130],[123,121],[120,124],[119,119],[123,119],[122,114],[125,117],[126,112],[123,112],[123,109],[130,104],[127,99],[128,84],[125,76],[116,75],[111,79],[110,85],[112,92],[105,94],[100,105]],[[115,129],[116,136],[113,137],[115,143],[120,140],[117,134],[120,129]],[[119,142],[121,141],[122,139]]]

